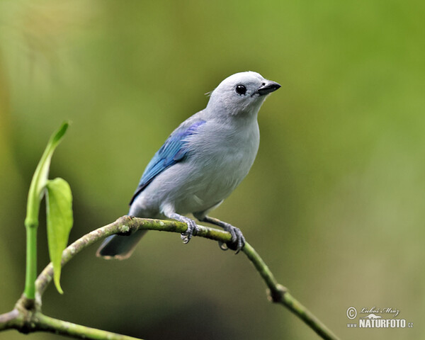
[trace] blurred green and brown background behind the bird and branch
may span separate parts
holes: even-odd
[[[31,176],[62,120],[51,178],[74,193],[70,240],[124,215],[169,133],[222,79],[282,88],[261,145],[214,214],[342,339],[420,339],[425,286],[424,1],[0,1],[0,312],[23,291]],[[44,218],[44,217],[43,217]],[[39,266],[48,261],[40,228]],[[149,232],[128,261],[84,251],[43,310],[143,339],[318,339],[266,300],[243,254]],[[348,307],[413,329],[348,329]],[[50,334],[0,339],[62,339]]]

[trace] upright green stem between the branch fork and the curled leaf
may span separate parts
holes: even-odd
[[[23,293],[33,300],[37,278],[37,225],[26,225],[26,243],[26,278]]]

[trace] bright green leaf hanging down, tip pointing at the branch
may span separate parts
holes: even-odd
[[[68,244],[69,232],[72,228],[72,193],[64,179],[53,179],[46,183],[47,209],[47,243],[50,261],[53,264],[53,279],[59,293],[62,251]]]

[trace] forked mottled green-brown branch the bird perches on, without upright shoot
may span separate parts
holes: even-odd
[[[207,239],[212,239],[223,243],[231,241],[231,236],[228,232],[203,226],[198,227],[200,228],[200,231],[196,235],[198,237],[205,237]],[[76,242],[68,246],[67,249],[65,249],[62,253],[62,267],[75,255],[77,255],[79,251],[85,249],[88,246],[91,246],[91,244],[98,242],[100,239],[111,236],[112,234],[125,234],[135,232],[137,230],[158,230],[163,232],[181,233],[186,232],[186,229],[186,224],[181,222],[123,216],[118,218],[118,220],[111,223],[110,225],[106,225],[105,227],[101,227],[94,230],[93,232],[90,232],[89,234],[84,235],[80,239],[77,239]],[[300,302],[298,302],[292,295],[290,295],[290,293],[288,293],[286,288],[277,282],[266,263],[264,263],[263,259],[261,259],[259,254],[256,253],[255,249],[250,244],[246,243],[242,251],[254,264],[254,267],[266,283],[271,301],[287,307],[297,317],[302,319],[302,321],[305,322],[305,324],[314,330],[320,337],[322,337],[322,339],[338,340],[338,338],[332,334],[332,332],[327,329],[327,327],[324,326],[324,324],[322,324],[322,322],[320,322],[317,317],[314,317],[314,315],[309,310],[307,310],[306,307],[301,305]],[[79,339],[135,339],[129,336],[122,336],[107,331],[91,329],[89,327],[52,319],[51,317],[47,317],[44,314],[41,314],[41,297],[45,292],[47,285],[49,285],[49,283],[52,281],[52,278],[53,266],[52,263],[50,263],[42,271],[42,273],[40,273],[37,280],[35,281],[36,303],[29,308],[30,313],[25,314],[25,311],[22,311],[22,307],[19,307],[20,304],[18,302],[15,310],[0,315],[0,331],[2,329],[15,328],[26,332],[58,332],[62,335],[73,336]],[[28,304],[28,299],[26,299],[25,295],[23,295],[21,300],[21,305],[25,305],[26,303]],[[18,310],[18,312],[16,312],[16,310]],[[25,325],[26,327],[24,327]],[[28,325],[30,325],[29,328]]]

